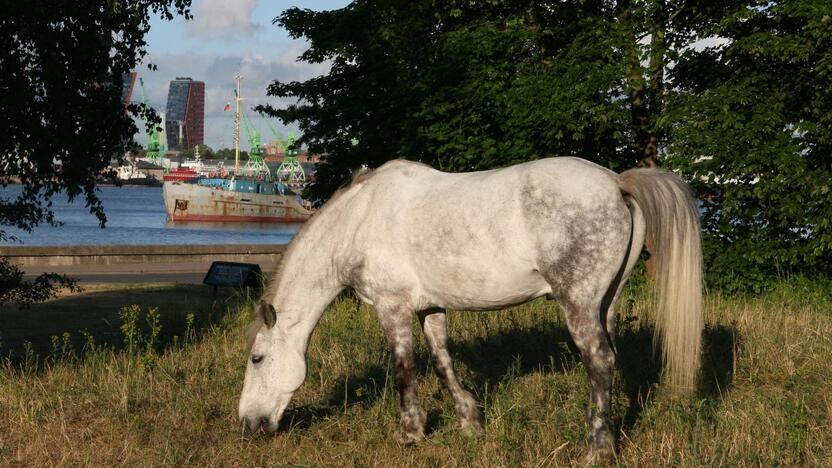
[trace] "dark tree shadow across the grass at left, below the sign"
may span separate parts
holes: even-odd
[[[123,349],[119,313],[134,304],[140,309],[136,325],[143,336],[149,334],[148,310],[158,309],[161,329],[154,348],[164,351],[183,343],[186,335],[190,340],[199,339],[249,295],[245,290],[221,289],[215,296],[204,286],[170,285],[93,290],[28,309],[4,306],[0,308],[0,358],[8,358],[13,366],[40,367],[46,358],[83,360],[89,340],[96,346]],[[144,348],[143,343],[139,346]]]

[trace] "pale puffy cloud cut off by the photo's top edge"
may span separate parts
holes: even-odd
[[[251,36],[260,28],[251,14],[258,0],[201,0],[188,31],[203,38]]]

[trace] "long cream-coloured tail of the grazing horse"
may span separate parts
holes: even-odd
[[[675,174],[632,169],[618,177],[646,222],[645,244],[656,275],[656,333],[672,386],[692,390],[702,341],[702,239],[690,188]]]

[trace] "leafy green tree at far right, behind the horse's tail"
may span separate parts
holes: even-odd
[[[705,196],[714,284],[832,273],[832,2],[730,2],[681,54],[668,153]]]

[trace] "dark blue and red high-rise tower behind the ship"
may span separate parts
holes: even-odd
[[[205,83],[177,77],[170,82],[165,112],[168,149],[191,150],[205,141]]]

